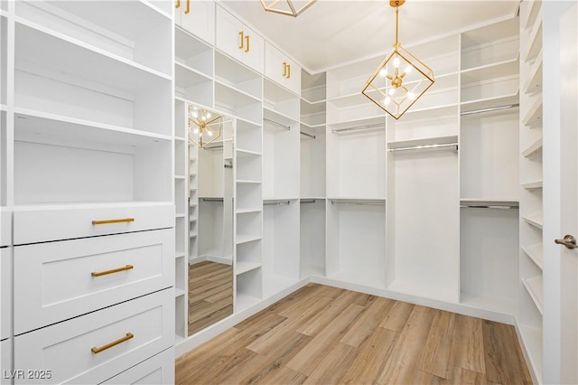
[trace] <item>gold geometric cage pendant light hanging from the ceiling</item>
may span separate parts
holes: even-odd
[[[397,37],[399,34],[399,7],[406,0],[393,0],[389,5],[396,8],[396,42],[394,49],[374,70],[365,87],[363,95],[376,103],[395,119],[399,119],[417,99],[433,85],[433,70],[408,52]]]

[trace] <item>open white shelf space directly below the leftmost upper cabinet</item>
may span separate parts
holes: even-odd
[[[212,79],[213,49],[210,45],[200,42],[191,33],[175,26],[174,30],[174,61],[196,70]]]

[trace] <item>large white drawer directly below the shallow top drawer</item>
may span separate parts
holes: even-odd
[[[125,269],[93,277],[118,268]],[[14,334],[144,296],[173,281],[174,229],[16,246]]]

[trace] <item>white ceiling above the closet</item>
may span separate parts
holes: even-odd
[[[318,0],[296,18],[266,13],[259,0],[219,2],[316,73],[385,54],[395,33],[395,9],[385,0]],[[303,4],[303,1],[301,2]],[[407,0],[399,8],[399,42],[430,40],[517,13],[516,0]]]

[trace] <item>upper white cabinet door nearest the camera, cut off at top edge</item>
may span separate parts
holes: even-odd
[[[188,11],[188,12],[187,12]],[[215,2],[207,0],[181,0],[175,11],[177,24],[211,45],[215,43]]]

